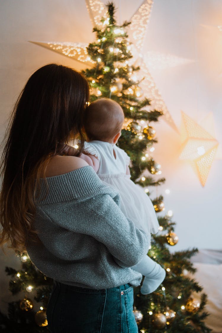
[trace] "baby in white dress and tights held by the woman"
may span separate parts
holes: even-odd
[[[88,142],[80,157],[94,168],[102,181],[119,192],[120,208],[124,215],[150,237],[150,233],[156,233],[159,227],[152,202],[142,188],[130,180],[130,159],[115,145],[121,135],[123,121],[123,111],[115,101],[102,98],[91,103],[85,119]],[[68,155],[72,155],[71,149]],[[156,290],[166,274],[148,256],[132,269],[145,276],[140,290],[142,294]]]

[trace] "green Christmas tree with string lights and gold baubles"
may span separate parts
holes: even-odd
[[[102,18],[101,29],[94,28],[96,41],[89,44],[88,55],[94,63],[93,68],[83,71],[88,78],[92,96],[91,102],[106,97],[119,103],[125,114],[122,135],[118,146],[131,160],[131,179],[142,186],[147,195],[149,187],[161,185],[165,179],[159,178],[160,165],[151,156],[153,144],[157,143],[155,129],[150,124],[161,117],[161,110],[151,110],[148,99],[142,98],[140,81],[130,53],[130,43],[126,29],[130,24],[116,25],[115,8],[108,3],[108,16]],[[152,199],[157,213],[164,211],[163,197]],[[139,332],[210,332],[204,324],[207,313],[203,310],[206,295],[199,299],[193,293],[202,288],[188,276],[194,273],[190,257],[197,249],[171,253],[170,246],[178,242],[170,214],[158,214],[159,232],[152,235],[148,255],[166,270],[166,278],[161,286],[148,295],[140,294],[134,288],[134,315]],[[12,277],[9,289],[13,295],[23,291],[24,297],[9,304],[8,316],[0,313],[2,332],[44,332],[47,331],[46,307],[52,280],[39,272],[27,254],[20,254],[21,270],[6,267]],[[38,309],[33,304],[33,293]],[[32,296],[31,296],[32,295]],[[34,310],[35,308],[35,310]]]

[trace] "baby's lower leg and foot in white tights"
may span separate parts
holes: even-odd
[[[150,294],[163,282],[166,271],[147,255],[135,266],[131,267],[144,275],[140,292],[143,295]]]

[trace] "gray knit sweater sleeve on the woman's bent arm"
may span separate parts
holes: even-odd
[[[116,194],[117,202],[118,198]],[[131,267],[148,252],[150,239],[125,217],[110,194],[99,193],[77,205],[70,203],[67,210],[70,218],[63,219],[62,226],[103,243],[119,266]]]

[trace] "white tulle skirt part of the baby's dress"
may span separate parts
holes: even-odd
[[[157,233],[159,223],[153,204],[144,190],[134,184],[129,175],[99,174],[99,177],[106,185],[114,187],[119,192],[121,211],[134,222],[138,229],[147,234]]]

